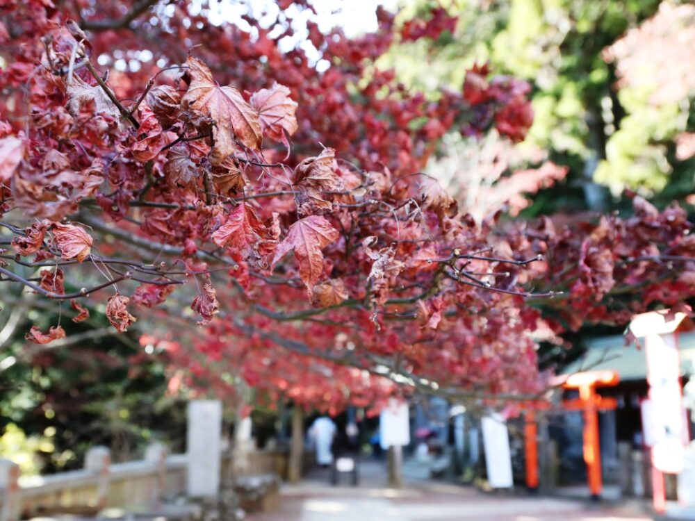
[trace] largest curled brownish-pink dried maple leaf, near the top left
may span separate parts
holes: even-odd
[[[191,81],[181,98],[181,108],[202,113],[215,122],[211,163],[219,165],[234,154],[235,136],[245,147],[260,149],[263,136],[256,109],[234,87],[215,83],[208,66],[198,58],[189,56],[186,66]]]

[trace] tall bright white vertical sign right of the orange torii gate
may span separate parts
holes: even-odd
[[[650,333],[646,336],[645,349],[651,404],[647,405],[644,436],[652,447],[654,467],[670,474],[682,471],[685,449],[676,334]]]

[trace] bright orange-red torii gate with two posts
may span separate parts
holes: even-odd
[[[566,411],[584,412],[584,462],[587,463],[589,490],[591,491],[591,496],[596,499],[600,497],[603,486],[601,480],[598,411],[614,409],[617,406],[616,399],[601,397],[596,392],[596,388],[616,386],[619,381],[619,374],[615,371],[589,371],[571,374],[560,382],[563,389],[579,390],[579,398],[563,400],[562,408]],[[525,416],[526,486],[537,488],[539,485],[538,426],[534,411],[528,411]]]

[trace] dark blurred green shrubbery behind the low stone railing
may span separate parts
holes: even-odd
[[[58,317],[49,312],[35,320]],[[165,354],[126,334],[95,335],[108,327],[97,313],[63,324],[75,341],[27,345],[19,327],[3,345],[0,454],[19,458],[32,473],[81,468],[95,445],[110,447],[115,461],[142,457],[155,440],[183,450],[186,406],[167,395]]]

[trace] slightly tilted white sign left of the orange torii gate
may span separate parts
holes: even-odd
[[[485,449],[487,479],[493,488],[511,488],[512,454],[509,451],[509,431],[502,415],[493,413],[481,420],[482,444]]]

